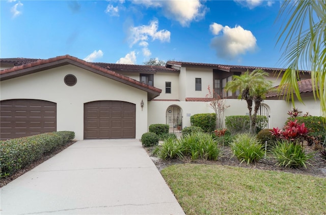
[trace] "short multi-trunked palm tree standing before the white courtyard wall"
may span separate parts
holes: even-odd
[[[272,82],[265,79],[268,73],[263,70],[254,70],[245,72],[242,75],[234,75],[233,80],[227,82],[225,90],[231,90],[233,93],[239,90],[238,99],[246,100],[249,110],[250,132],[256,134],[256,118],[261,102],[265,98]],[[255,102],[254,114],[252,115],[253,102]]]

